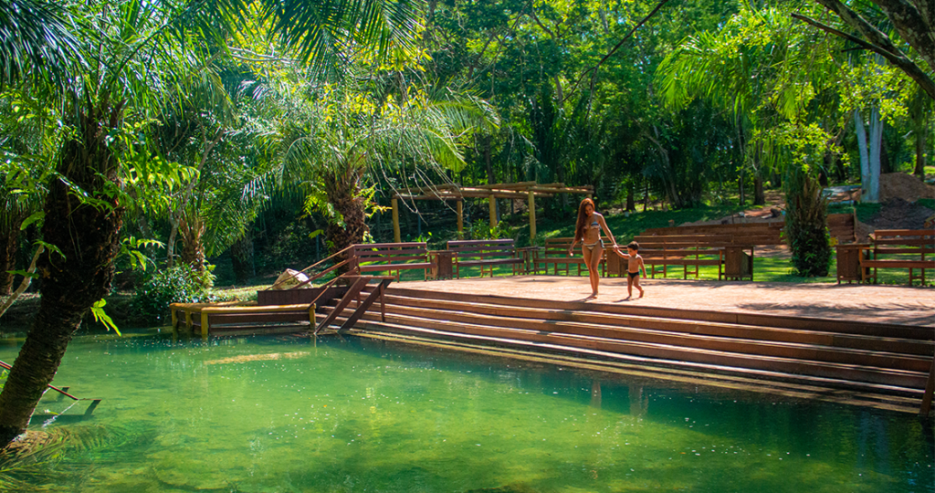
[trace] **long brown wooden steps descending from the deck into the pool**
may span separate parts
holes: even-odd
[[[336,308],[320,316],[348,326],[352,315]],[[384,315],[357,315],[359,331],[808,385],[902,410],[919,410],[935,383],[935,330],[922,326],[402,287],[385,290]]]

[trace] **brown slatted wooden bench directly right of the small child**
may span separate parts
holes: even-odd
[[[669,273],[668,266],[683,266],[683,279],[688,274],[695,274],[698,279],[700,267],[717,266],[719,281],[746,278],[753,281],[755,247],[738,242],[744,239],[731,235],[640,235],[634,239],[640,243],[643,264],[652,266],[653,277],[657,265],[662,266],[663,277]],[[694,271],[689,267],[694,267]]]

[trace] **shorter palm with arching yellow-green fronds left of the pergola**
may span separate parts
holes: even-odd
[[[496,125],[486,102],[467,92],[425,83],[360,89],[344,83],[306,92],[319,95],[291,103],[302,117],[282,122],[282,172],[299,179],[305,209],[329,219],[333,253],[365,239],[372,173],[404,163],[458,170],[460,138]]]

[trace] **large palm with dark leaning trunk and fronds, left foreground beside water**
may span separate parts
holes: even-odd
[[[152,163],[141,143],[150,118],[172,100],[200,60],[223,55],[224,36],[242,27],[253,2],[163,0],[46,2],[10,0],[0,16],[0,63],[9,81],[38,80],[55,94],[69,136],[58,152],[45,201],[43,274],[36,319],[0,393],[0,445],[22,434],[55,375],[81,317],[104,297],[128,201],[178,184],[178,167]],[[66,5],[63,5],[66,4]],[[259,2],[260,20],[301,60],[324,66],[350,59],[347,47],[405,45],[418,31],[418,11],[405,0]],[[61,6],[61,7],[57,7]],[[15,16],[8,15],[11,12]],[[326,12],[328,15],[323,15]],[[46,29],[54,23],[61,29]],[[57,23],[55,23],[57,22]],[[65,28],[67,26],[67,28]],[[32,28],[30,28],[32,27]],[[42,27],[38,29],[37,27]],[[67,33],[77,33],[69,38]],[[213,41],[205,42],[205,36]],[[69,39],[73,39],[74,42]],[[220,39],[220,41],[218,41]],[[411,44],[411,43],[410,43]],[[46,53],[74,46],[82,56]],[[59,70],[58,66],[62,69]],[[336,65],[339,69],[341,65]],[[74,74],[66,88],[54,73]],[[143,177],[139,180],[139,177]],[[157,178],[156,185],[151,180]]]

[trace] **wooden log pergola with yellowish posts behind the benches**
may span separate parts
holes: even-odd
[[[458,237],[464,237],[464,199],[486,198],[490,204],[490,227],[496,226],[496,199],[497,198],[523,198],[529,204],[529,238],[536,238],[536,197],[550,197],[555,194],[579,194],[589,198],[594,195],[594,187],[565,186],[565,183],[539,184],[536,181],[521,181],[518,183],[494,183],[462,187],[456,183],[432,185],[411,188],[411,193],[396,193],[391,199],[393,206],[393,239],[401,241],[399,234],[399,204],[398,199],[408,200],[455,200],[458,211]]]

